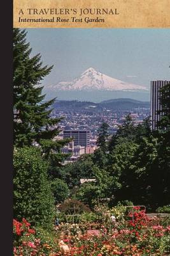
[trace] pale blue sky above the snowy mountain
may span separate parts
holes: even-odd
[[[170,79],[170,29],[26,29],[32,54],[54,65],[43,85],[71,81],[89,67],[150,88]]]

